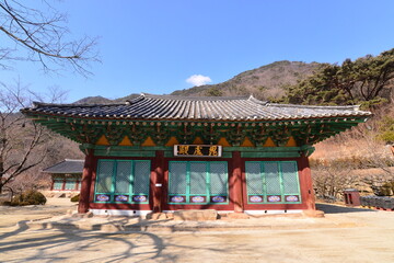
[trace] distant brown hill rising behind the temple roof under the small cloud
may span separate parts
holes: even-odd
[[[298,80],[312,75],[320,65],[318,62],[305,64],[282,60],[247,70],[222,83],[177,90],[171,94],[183,96],[253,94],[260,100],[280,98],[285,94],[283,88],[286,85],[296,84]]]

